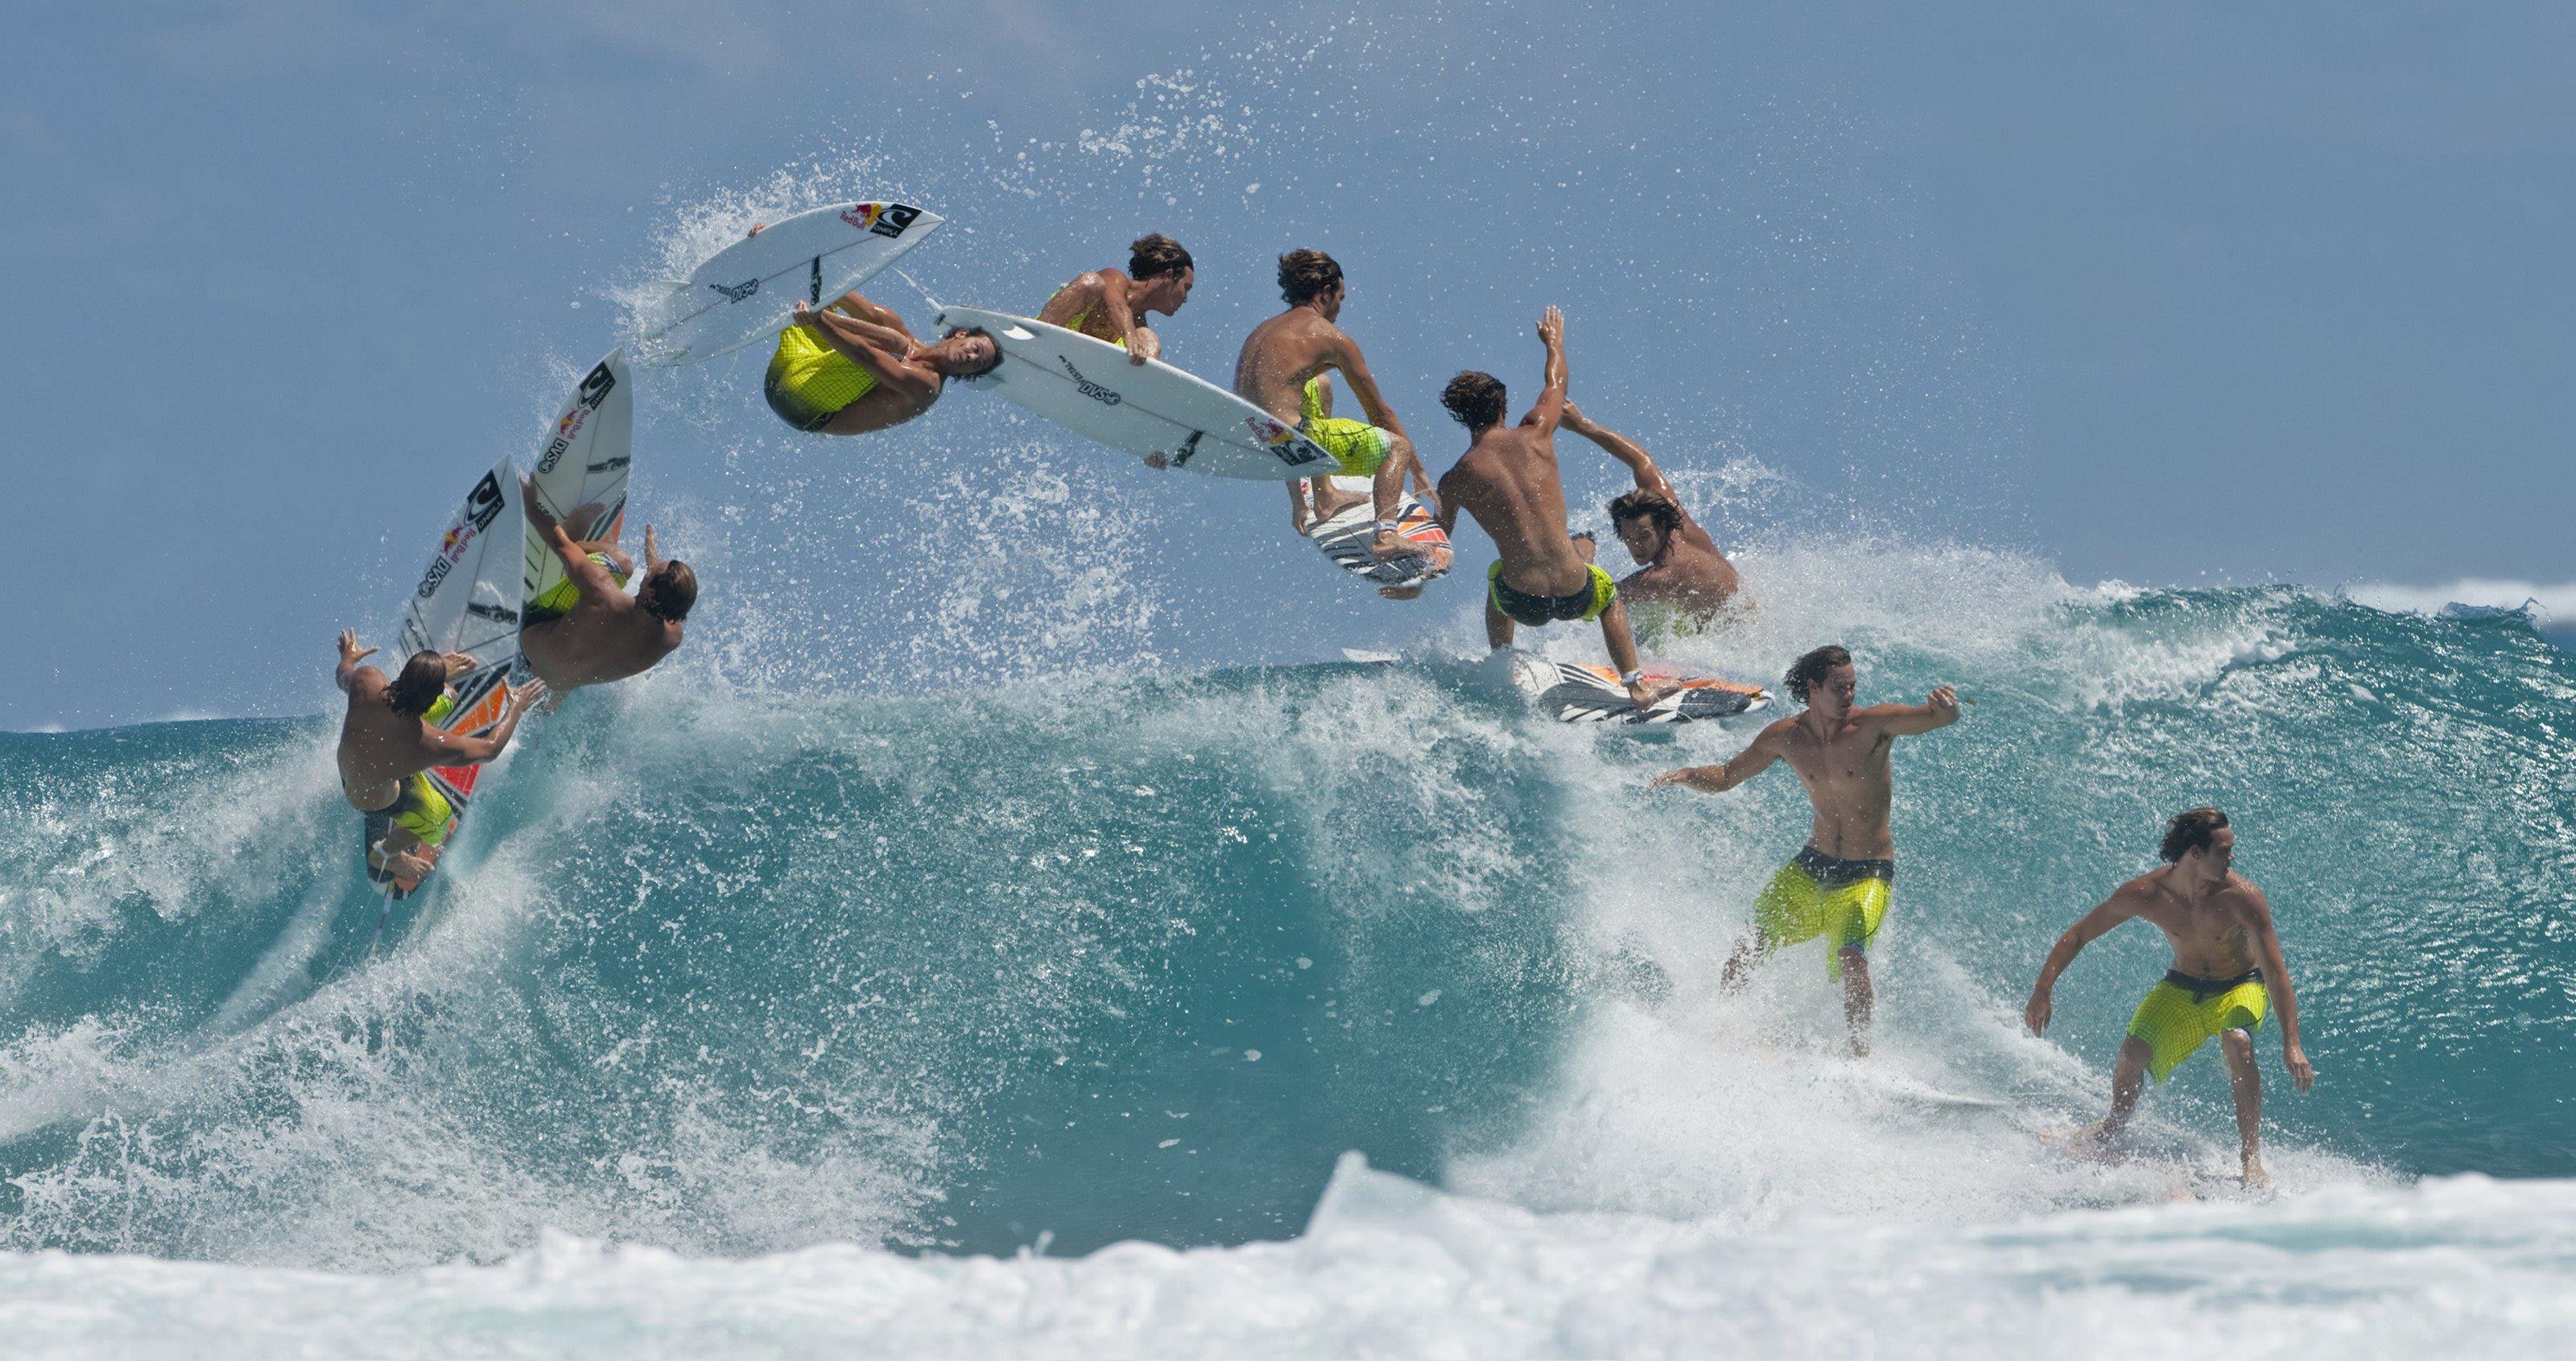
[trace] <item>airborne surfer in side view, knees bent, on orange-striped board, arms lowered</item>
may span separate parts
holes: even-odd
[[[1340,464],[1342,477],[1368,477],[1370,500],[1378,513],[1378,534],[1370,539],[1370,557],[1409,557],[1414,549],[1396,539],[1396,510],[1404,495],[1404,477],[1414,479],[1422,500],[1437,503],[1414,441],[1404,436],[1404,423],[1378,394],[1378,379],[1368,374],[1368,358],[1337,322],[1350,286],[1342,265],[1321,250],[1291,250],[1280,255],[1280,302],[1285,312],[1252,327],[1244,353],[1234,361],[1234,392],[1270,412],[1280,425],[1321,446]],[[1321,376],[1340,369],[1350,394],[1360,400],[1368,420],[1329,415],[1324,407]],[[1342,492],[1329,477],[1288,482],[1288,523],[1298,534],[1306,526],[1329,521],[1360,505],[1358,495]]]

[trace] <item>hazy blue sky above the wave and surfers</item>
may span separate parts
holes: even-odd
[[[381,632],[446,503],[616,343],[618,289],[690,224],[866,188],[951,214],[917,273],[992,307],[1172,229],[1203,260],[1172,356],[1218,379],[1270,255],[1324,245],[1435,469],[1437,384],[1528,387],[1561,302],[1597,418],[1785,477],[1736,536],[1953,536],[2079,583],[2576,577],[2563,8],[147,0],[10,28],[0,727],[317,709],[332,632]],[[884,650],[920,621],[829,601],[984,552],[886,526],[1064,536],[1087,503],[1151,539],[1100,562],[1159,593],[1159,655],[1425,626],[1309,606],[1337,583],[1283,562],[1275,492],[1025,454],[1043,433],[963,402],[817,446],[755,381],[644,387],[639,510],[734,601],[806,611],[714,637]],[[1015,500],[1028,459],[1054,500]]]

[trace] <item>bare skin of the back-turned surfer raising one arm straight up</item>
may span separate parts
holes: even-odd
[[[1453,531],[1466,510],[1494,539],[1504,585],[1530,595],[1571,595],[1592,580],[1592,567],[1566,539],[1566,485],[1556,469],[1556,425],[1566,410],[1566,317],[1556,307],[1538,317],[1538,343],[1548,348],[1538,405],[1520,425],[1468,430],[1466,454],[1440,477],[1440,531]],[[1610,662],[1620,675],[1636,673],[1628,606],[1610,601],[1600,621]],[[1492,595],[1484,601],[1484,639],[1497,650],[1512,644],[1512,616],[1494,608]],[[1628,701],[1643,709],[1674,688],[1680,686],[1633,680]]]

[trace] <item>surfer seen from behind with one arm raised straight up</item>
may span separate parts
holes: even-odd
[[[1564,312],[1548,307],[1538,317],[1538,340],[1548,348],[1546,387],[1520,425],[1502,425],[1504,387],[1494,374],[1466,371],[1440,392],[1440,405],[1466,425],[1468,438],[1466,454],[1440,477],[1440,528],[1453,531],[1458,510],[1466,510],[1502,554],[1486,572],[1484,595],[1484,639],[1494,650],[1512,644],[1515,624],[1540,629],[1558,619],[1600,619],[1628,701],[1646,709],[1674,686],[1646,686],[1618,583],[1584,562],[1566,534],[1566,485],[1556,474],[1556,423],[1566,407]],[[1378,500],[1378,518],[1386,518],[1386,500]]]

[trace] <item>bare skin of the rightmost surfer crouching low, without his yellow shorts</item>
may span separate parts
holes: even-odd
[[[2048,1034],[2050,992],[2076,954],[2110,928],[2141,918],[2164,931],[2164,941],[2174,946],[2174,969],[2184,974],[2226,980],[2259,967],[2272,1013],[2280,1016],[2280,1062],[2290,1070],[2290,1083],[2298,1090],[2313,1088],[2316,1067],[2298,1047],[2298,995],[2290,990],[2290,967],[2280,956],[2280,933],[2272,931],[2272,905],[2264,902],[2251,879],[2236,874],[2233,861],[2236,830],[2218,827],[2208,845],[2184,851],[2179,861],[2120,884],[2099,907],[2076,918],[2048,951],[2048,961],[2040,964],[2040,980],[2030,985],[2030,1005],[2022,1008],[2022,1023],[2030,1026],[2030,1034]],[[2244,1183],[2262,1186],[2267,1181],[2262,1170],[2262,1070],[2254,1065],[2254,1036],[2226,1031],[2218,1036],[2218,1052],[2226,1057],[2228,1090],[2236,1096]],[[2120,1041],[2120,1057],[2110,1075],[2110,1114],[2087,1126],[2079,1139],[2102,1147],[2128,1126],[2138,1108],[2138,1093],[2146,1088],[2146,1065],[2154,1057],[2154,1047],[2138,1036]]]

